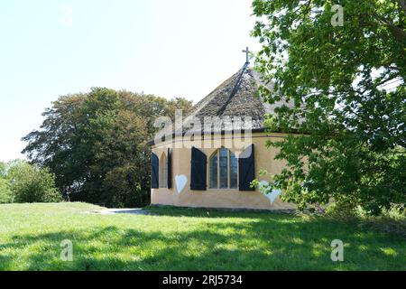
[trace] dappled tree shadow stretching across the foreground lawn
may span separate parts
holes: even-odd
[[[220,210],[161,210],[171,217],[208,217],[172,230],[106,226],[14,235],[0,245],[0,269],[23,270],[405,270],[406,243],[331,219]],[[180,213],[181,212],[181,213]],[[234,219],[245,218],[237,222]],[[160,222],[162,217],[148,218]],[[222,219],[215,219],[222,218]],[[162,226],[169,226],[163,223]],[[187,227],[190,226],[188,229]],[[345,243],[332,262],[331,241]],[[60,241],[73,261],[60,260]]]

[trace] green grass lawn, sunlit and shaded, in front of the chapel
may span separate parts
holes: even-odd
[[[405,270],[406,240],[356,223],[270,212],[152,208],[100,215],[85,203],[0,205],[0,270]],[[60,242],[73,242],[73,261]],[[330,243],[345,243],[332,262]]]

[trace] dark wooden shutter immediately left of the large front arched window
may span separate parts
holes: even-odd
[[[208,157],[196,147],[191,149],[190,190],[206,191]]]

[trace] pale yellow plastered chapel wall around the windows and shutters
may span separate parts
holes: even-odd
[[[214,135],[210,139],[212,145],[204,143],[200,138],[194,141],[186,141],[175,138],[174,142],[162,143],[152,146],[152,152],[160,160],[162,154],[167,154],[168,147],[172,152],[172,188],[152,189],[151,203],[155,205],[171,205],[179,207],[195,208],[228,208],[228,209],[256,209],[256,210],[288,210],[294,209],[294,205],[282,202],[279,198],[271,202],[262,192],[256,191],[238,191],[238,189],[207,189],[207,191],[190,190],[190,155],[191,147],[195,146],[204,154],[210,156],[222,145],[238,155],[244,151],[251,143],[254,144],[254,165],[255,178],[258,180],[269,181],[269,177],[260,176],[261,169],[271,174],[281,172],[285,163],[280,160],[274,160],[276,154],[275,148],[267,148],[266,140],[275,141],[281,139],[281,134],[253,134],[249,142],[244,143],[244,136],[241,138],[229,135]],[[208,142],[208,139],[207,139]],[[208,148],[210,147],[210,148]],[[187,178],[184,189],[180,192],[177,190],[176,178],[184,175]],[[208,176],[208,172],[207,172]],[[207,180],[207,183],[208,180]]]

